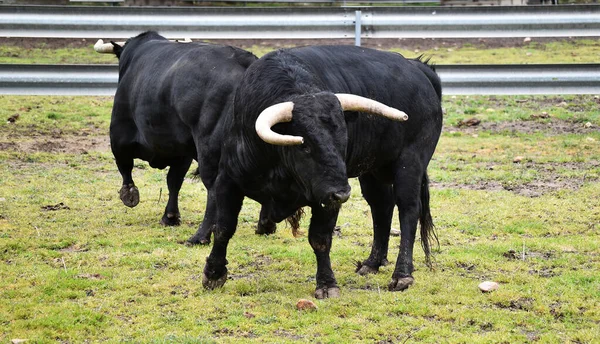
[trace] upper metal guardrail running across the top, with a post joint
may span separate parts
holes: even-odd
[[[600,6],[0,6],[3,37],[123,39],[146,30],[172,39],[600,36]]]

